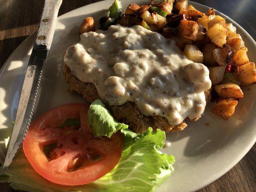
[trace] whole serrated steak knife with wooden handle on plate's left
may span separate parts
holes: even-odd
[[[12,136],[2,171],[6,170],[11,165],[12,159],[18,152],[31,122],[37,102],[43,65],[51,46],[61,2],[62,0],[45,0],[36,41],[25,72],[19,105],[12,129]]]

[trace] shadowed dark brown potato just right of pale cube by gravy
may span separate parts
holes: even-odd
[[[216,65],[216,60],[213,56],[213,50],[218,48],[213,43],[207,43],[203,47],[204,60],[203,63],[207,65]]]

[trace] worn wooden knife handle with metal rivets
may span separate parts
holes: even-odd
[[[62,0],[45,0],[34,48],[50,49]]]

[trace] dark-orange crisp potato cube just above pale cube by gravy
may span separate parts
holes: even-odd
[[[196,40],[199,25],[195,21],[182,20],[178,26],[180,36]]]

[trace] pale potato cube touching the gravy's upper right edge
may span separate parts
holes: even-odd
[[[203,62],[203,53],[195,45],[186,45],[184,48],[184,54],[189,59],[195,63]]]

